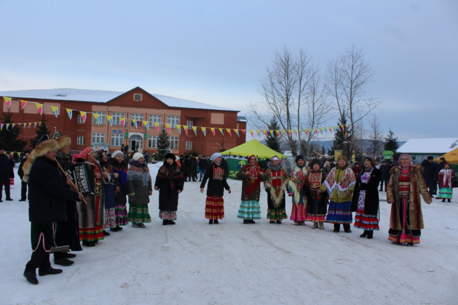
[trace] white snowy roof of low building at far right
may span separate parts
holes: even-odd
[[[398,149],[398,152],[414,154],[445,154],[454,150],[457,145],[458,138],[410,139]]]

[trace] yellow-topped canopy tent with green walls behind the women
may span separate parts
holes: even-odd
[[[255,155],[259,161],[264,161],[266,158],[270,159],[273,156],[286,159],[285,155],[270,149],[256,139],[223,151],[221,155],[228,161],[229,178],[232,179],[236,179],[235,174],[247,164],[247,158],[251,155]]]

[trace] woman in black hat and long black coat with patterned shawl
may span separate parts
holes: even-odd
[[[165,155],[164,165],[157,171],[154,183],[154,189],[159,190],[159,218],[164,226],[175,224],[178,195],[183,191],[183,172],[175,160],[174,154]]]

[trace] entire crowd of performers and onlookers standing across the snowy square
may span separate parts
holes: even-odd
[[[33,251],[24,276],[32,284],[38,284],[36,269],[39,275],[62,272],[51,267],[50,253],[56,265],[70,266],[74,252],[82,250],[81,244],[95,247],[110,232],[121,231],[129,223],[134,228],[146,228],[145,224],[152,221],[149,203],[153,189],[159,192],[158,216],[163,225],[175,224],[185,182],[197,180],[202,193],[207,185],[204,216],[209,224],[219,224],[225,216],[223,197],[225,190],[230,194],[231,189],[228,162],[220,153],[210,158],[168,153],[153,181],[148,161],[154,160],[155,154],[129,153],[123,145],[111,155],[87,147],[72,156],[70,144],[70,137],[56,133],[52,139],[39,141],[33,151],[25,151],[19,164],[19,201],[29,200]],[[384,191],[391,204],[388,239],[407,246],[420,243],[424,227],[420,197],[429,204],[439,192],[437,198],[450,202],[456,187],[456,175],[443,158],[435,163],[428,157],[420,166],[402,154],[398,165],[384,160],[378,168],[371,157],[363,158],[360,165],[343,155],[335,160],[306,160],[298,155],[295,164],[288,162],[287,166],[276,156],[267,159],[264,166],[254,155],[247,161],[235,175],[242,180],[237,217],[244,224],[255,224],[262,218],[259,201],[264,189],[270,224],[282,224],[288,218],[286,199],[291,197],[289,219],[295,225],[311,222],[312,229],[324,230],[324,223],[332,223],[335,233],[340,232],[341,225],[345,233],[351,233],[354,220],[354,227],[363,230],[360,237],[371,239],[379,230],[379,192]],[[75,166],[84,168],[89,191],[76,183],[76,177],[78,182],[83,178],[73,175]],[[0,179],[6,200],[12,200],[9,185],[13,167],[11,157],[0,147]]]

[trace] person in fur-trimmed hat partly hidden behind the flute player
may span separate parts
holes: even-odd
[[[64,170],[67,170],[73,163],[73,157],[70,155],[72,139],[66,135],[60,136],[60,132],[57,132],[53,138],[59,144],[56,160]],[[61,174],[63,179],[67,179],[63,173]],[[76,201],[66,200],[66,212],[67,220],[56,223],[56,245],[61,248],[61,251],[54,252],[54,264],[61,266],[70,266],[74,263],[69,258],[76,257],[76,254],[69,253],[69,251],[82,251],[81,244],[79,243]]]

